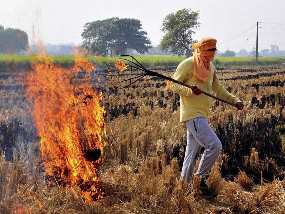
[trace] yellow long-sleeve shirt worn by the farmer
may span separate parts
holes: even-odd
[[[239,98],[229,93],[220,83],[216,75],[216,69],[211,64],[211,75],[207,82],[203,82],[194,76],[193,57],[189,57],[178,65],[173,78],[189,85],[198,85],[203,91],[214,94],[236,104],[241,102]],[[171,82],[170,89],[180,94],[180,122],[191,120],[196,117],[204,117],[208,120],[212,98],[205,94],[196,95],[190,88],[182,86],[178,83]]]

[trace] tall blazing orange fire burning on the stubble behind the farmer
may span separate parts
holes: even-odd
[[[25,96],[33,101],[34,125],[47,176],[62,185],[79,186],[86,201],[103,197],[98,172],[103,164],[102,127],[105,110],[101,92],[92,88],[96,69],[81,55],[62,68],[47,56],[32,64]],[[22,77],[24,78],[24,77]]]

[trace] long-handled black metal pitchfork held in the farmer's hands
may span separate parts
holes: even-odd
[[[125,59],[125,58],[119,58],[119,59],[126,60],[126,61],[128,61],[128,62],[131,63],[131,64],[126,64],[126,65],[128,65],[128,66],[131,67],[131,78],[125,79],[125,80],[122,80],[122,81],[119,81],[119,82],[125,82],[125,81],[130,80],[130,84],[128,84],[128,85],[126,85],[126,86],[123,86],[123,87],[121,87],[121,88],[127,88],[128,86],[134,84],[135,82],[139,81],[141,78],[144,78],[145,76],[148,75],[148,76],[156,76],[156,77],[159,77],[159,78],[162,78],[162,79],[165,79],[165,80],[169,80],[169,81],[171,81],[171,82],[178,83],[178,84],[180,84],[180,85],[186,86],[187,88],[191,88],[192,90],[194,90],[194,87],[193,87],[193,86],[190,86],[190,85],[188,85],[188,84],[186,84],[186,83],[184,83],[184,82],[180,82],[180,81],[175,80],[175,79],[172,79],[172,78],[170,78],[170,77],[168,77],[168,76],[164,76],[164,75],[162,75],[162,74],[158,74],[158,73],[156,73],[156,72],[154,72],[154,71],[151,71],[151,70],[146,69],[138,60],[135,59],[135,57],[133,57],[133,56],[131,56],[131,55],[120,55],[120,56],[128,56],[128,57],[131,57],[131,58],[132,58],[132,60],[128,60],[128,59]],[[134,62],[134,60],[135,60],[135,62]],[[132,77],[133,68],[143,71],[144,74],[141,74],[141,75],[136,76],[136,77]],[[138,79],[137,79],[137,78],[138,78]],[[135,80],[135,79],[137,79],[137,80]],[[135,81],[132,82],[132,80],[135,80]],[[228,101],[226,101],[226,100],[223,100],[223,99],[221,99],[221,98],[219,98],[219,97],[216,97],[216,96],[214,96],[214,95],[212,95],[212,94],[210,94],[210,93],[208,93],[208,92],[205,92],[205,91],[203,91],[203,90],[201,90],[201,94],[205,94],[206,96],[209,96],[209,97],[211,97],[211,98],[214,98],[214,99],[216,99],[216,100],[219,100],[219,101],[221,101],[221,102],[224,102],[224,103],[226,103],[226,104],[229,104],[229,105],[231,105],[231,106],[237,107],[236,104],[233,104],[233,103],[231,103],[231,102],[228,102]]]

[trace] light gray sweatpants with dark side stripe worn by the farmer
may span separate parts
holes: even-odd
[[[199,167],[195,175],[204,178],[211,170],[222,150],[222,144],[215,132],[203,117],[185,122],[187,127],[187,146],[181,171],[181,179],[191,181],[196,165],[196,156],[201,147],[205,148]]]

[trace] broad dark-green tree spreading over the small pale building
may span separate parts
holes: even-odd
[[[146,31],[141,31],[139,19],[110,18],[88,22],[84,25],[81,34],[83,46],[89,51],[107,56],[112,44],[136,50],[144,54],[148,52],[150,40],[145,36]]]

